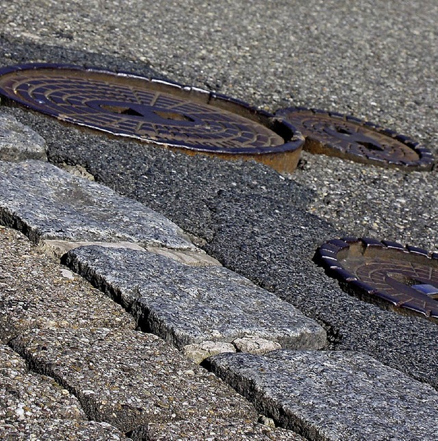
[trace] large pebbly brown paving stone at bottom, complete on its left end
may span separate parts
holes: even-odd
[[[124,433],[192,417],[257,420],[246,399],[151,334],[31,329],[11,344],[31,368],[73,392],[88,418]]]

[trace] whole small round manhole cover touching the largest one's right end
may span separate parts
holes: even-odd
[[[276,116],[305,136],[305,151],[409,171],[429,171],[433,155],[418,142],[353,116],[305,108],[286,108]]]

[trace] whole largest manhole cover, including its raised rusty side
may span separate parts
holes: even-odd
[[[129,73],[10,66],[0,69],[0,94],[68,123],[285,172],[296,167],[304,143],[291,124],[242,101]]]

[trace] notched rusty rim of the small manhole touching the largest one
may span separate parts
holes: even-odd
[[[378,136],[387,136],[388,140],[394,140],[400,142],[404,147],[408,147],[414,153],[418,155],[418,159],[412,161],[403,162],[402,160],[390,160],[378,157],[378,155],[372,154],[372,151],[367,154],[358,154],[354,152],[349,152],[347,149],[339,149],[338,147],[333,147],[327,140],[318,139],[318,132],[311,134],[311,129],[302,129],[302,124],[300,123],[303,118],[296,118],[298,121],[293,121],[294,116],[298,114],[309,114],[309,117],[313,116],[318,118],[326,118],[333,120],[333,123],[346,123],[347,125],[354,125],[354,127],[362,128],[368,131],[368,134],[375,132]],[[324,153],[329,156],[341,157],[344,159],[352,160],[355,162],[361,162],[363,164],[372,164],[375,166],[387,167],[387,168],[402,168],[404,171],[430,171],[433,169],[435,160],[433,154],[429,149],[420,144],[420,142],[413,140],[409,136],[405,136],[397,133],[394,130],[388,129],[376,123],[370,121],[364,121],[355,116],[350,116],[348,114],[342,114],[339,112],[330,112],[326,110],[320,110],[315,108],[305,108],[305,107],[289,107],[277,110],[275,116],[283,118],[283,121],[292,123],[298,130],[304,135],[306,142],[303,146],[305,151],[310,153]],[[289,119],[290,118],[290,119]]]

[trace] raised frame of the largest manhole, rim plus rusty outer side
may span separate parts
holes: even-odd
[[[120,130],[112,129],[112,127],[99,127],[99,124],[93,123],[92,121],[81,121],[80,118],[77,118],[75,115],[72,116],[62,114],[56,110],[53,110],[53,108],[47,107],[48,103],[38,103],[36,99],[25,99],[23,98],[23,95],[19,94],[19,91],[17,92],[16,90],[13,90],[14,76],[16,77],[29,72],[29,79],[31,79],[32,75],[35,75],[36,72],[44,75],[44,71],[47,72],[47,75],[53,72],[62,74],[63,71],[65,71],[65,73],[70,73],[70,75],[73,77],[83,77],[83,79],[87,79],[87,77],[101,77],[109,82],[114,81],[114,84],[122,84],[124,86],[133,85],[139,88],[141,87],[147,90],[158,92],[159,94],[177,97],[177,99],[181,100],[187,100],[188,103],[195,103],[196,105],[204,106],[204,108],[216,109],[218,114],[220,114],[219,112],[222,112],[223,114],[227,114],[227,116],[230,115],[234,116],[235,118],[239,118],[239,121],[248,121],[248,127],[252,127],[250,124],[254,125],[254,127],[263,126],[263,129],[265,129],[267,132],[269,131],[269,133],[272,132],[276,138],[283,140],[283,143],[271,146],[266,144],[260,146],[242,144],[242,146],[237,145],[236,147],[225,148],[219,145],[190,143],[190,139],[187,141],[160,139],[157,138],[157,136],[148,136],[147,134],[144,136],[138,136],[136,134],[129,133],[129,131],[120,132]],[[8,86],[5,86],[6,83],[8,83]],[[143,142],[150,142],[153,144],[161,144],[166,147],[182,149],[187,151],[187,153],[211,153],[215,155],[227,156],[238,155],[239,157],[237,159],[244,157],[247,159],[261,160],[261,162],[263,162],[261,157],[266,157],[266,161],[270,162],[270,160],[272,161],[273,155],[283,154],[284,156],[294,154],[294,160],[295,162],[298,162],[299,153],[302,148],[302,144],[304,144],[304,138],[293,125],[287,123],[287,121],[282,121],[280,118],[276,118],[274,115],[268,112],[258,110],[257,108],[252,107],[243,101],[220,95],[215,92],[209,92],[200,88],[184,86],[182,84],[164,81],[162,79],[141,77],[140,75],[134,75],[132,73],[113,73],[106,71],[105,69],[92,67],[83,68],[81,66],[71,64],[35,63],[7,66],[0,68],[0,95],[3,95],[3,97],[6,97],[9,100],[16,101],[21,105],[25,105],[31,110],[36,110],[38,112],[54,116],[60,121],[74,123],[83,127],[97,129],[99,131],[105,131],[116,136],[126,136],[128,138],[134,138]],[[142,104],[139,103],[138,105],[141,106]],[[118,115],[120,116],[120,114]],[[125,116],[122,117],[124,118]],[[131,118],[131,116],[127,116],[126,118]],[[134,116],[134,118],[138,117]],[[191,123],[182,122],[179,124],[183,125]],[[248,157],[248,155],[252,157]],[[285,164],[285,171],[288,171],[289,168],[291,168],[291,166]],[[295,167],[293,166],[293,168]]]

